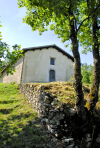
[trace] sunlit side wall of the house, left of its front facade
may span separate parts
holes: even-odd
[[[19,84],[21,81],[22,65],[23,65],[23,58],[19,59],[17,63],[15,63],[16,72],[13,72],[13,75],[8,74],[7,76],[6,71],[3,72],[2,82],[3,83],[16,82],[17,84]]]

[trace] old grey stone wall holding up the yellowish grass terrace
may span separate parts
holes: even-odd
[[[47,125],[48,131],[56,138],[63,139],[66,148],[78,148],[78,146],[75,146],[76,143],[73,138],[73,136],[77,137],[77,132],[80,130],[76,124],[78,118],[75,109],[68,108],[66,103],[60,104],[54,94],[45,92],[43,88],[43,85],[19,85],[20,92],[37,111],[41,122]],[[91,137],[91,134],[85,134],[86,147],[91,146]]]

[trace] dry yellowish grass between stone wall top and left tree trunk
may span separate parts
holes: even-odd
[[[35,84],[36,85],[36,84]],[[75,106],[75,92],[72,83],[68,82],[52,82],[42,83],[43,90],[54,94],[59,100],[60,104],[67,103],[68,107]],[[38,87],[38,85],[36,86]]]

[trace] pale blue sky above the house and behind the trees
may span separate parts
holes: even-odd
[[[0,0],[0,21],[2,25],[0,32],[2,32],[3,42],[10,46],[21,45],[21,49],[56,44],[73,56],[70,47],[65,48],[67,42],[61,43],[61,38],[57,38],[53,31],[48,30],[41,36],[38,30],[32,32],[31,27],[23,23],[25,15],[26,8],[18,8],[17,0]],[[92,53],[88,52],[87,55],[84,55],[81,54],[82,50],[83,48],[79,47],[81,63],[93,65]]]

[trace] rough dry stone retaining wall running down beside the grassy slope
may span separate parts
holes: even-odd
[[[37,111],[41,122],[47,125],[50,133],[57,138],[64,138],[65,144],[68,148],[74,148],[74,139],[69,137],[70,127],[66,123],[68,110],[66,104],[60,107],[55,107],[58,100],[55,95],[43,91],[43,86],[35,87],[33,84],[20,84],[20,92],[27,98],[29,103]],[[75,114],[74,109],[70,109],[70,114]],[[68,138],[66,138],[66,135]]]

